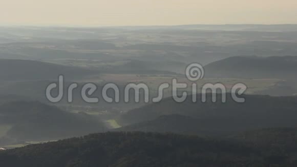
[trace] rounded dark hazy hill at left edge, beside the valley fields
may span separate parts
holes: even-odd
[[[98,117],[73,114],[40,102],[14,101],[0,106],[1,124],[10,125],[11,141],[42,141],[101,132]],[[6,143],[1,143],[6,144]]]

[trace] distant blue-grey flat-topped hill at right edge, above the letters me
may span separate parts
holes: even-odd
[[[206,65],[206,77],[216,78],[280,78],[297,77],[297,56],[238,56]]]

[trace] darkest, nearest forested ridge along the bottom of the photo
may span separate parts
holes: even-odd
[[[109,132],[3,151],[0,162],[9,167],[295,166],[295,153],[196,136]]]

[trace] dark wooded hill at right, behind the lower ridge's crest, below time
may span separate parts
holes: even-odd
[[[192,95],[178,103],[172,97],[163,99],[159,103],[152,103],[139,109],[134,109],[121,116],[121,123],[139,123],[154,120],[162,115],[179,114],[199,119],[253,119],[262,118],[266,121],[292,119],[297,116],[297,97],[272,97],[265,95],[242,95],[244,103],[235,102],[231,94],[226,94],[226,102],[222,102],[221,94],[217,94],[217,102],[211,101],[211,94],[207,94],[207,101],[201,102],[201,94],[197,94],[197,102],[192,101]],[[278,121],[280,122],[280,121]],[[275,124],[274,124],[275,125]],[[275,126],[278,127],[278,126]],[[265,127],[264,127],[265,128]]]

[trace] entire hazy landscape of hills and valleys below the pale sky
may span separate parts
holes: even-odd
[[[0,161],[13,167],[295,166],[296,29],[0,27]],[[185,75],[193,63],[204,70],[195,81]],[[51,102],[46,90],[60,75],[63,96]],[[187,93],[183,102],[173,98],[173,79],[188,85],[177,91]],[[86,96],[99,101],[85,100],[81,90],[88,83],[97,89]],[[107,83],[119,88],[118,102],[102,96]],[[145,83],[149,102],[141,89],[139,102],[133,91],[124,101],[129,83]],[[169,88],[154,102],[162,83]],[[226,92],[205,95],[207,83]],[[232,92],[237,83],[247,87],[244,93]],[[107,95],[117,97],[113,90]]]

